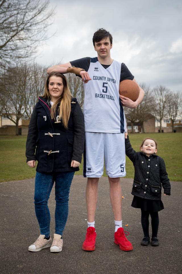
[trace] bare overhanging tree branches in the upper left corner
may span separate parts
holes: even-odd
[[[49,0],[0,0],[1,69],[37,52],[52,15]]]

